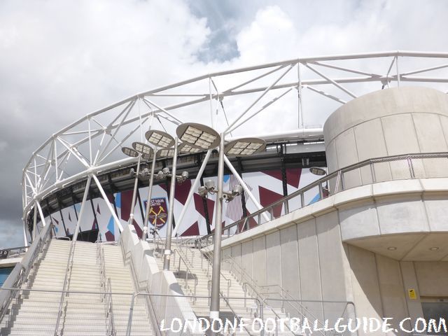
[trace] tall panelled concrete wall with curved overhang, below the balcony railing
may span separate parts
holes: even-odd
[[[330,325],[344,310],[334,302],[353,301],[358,318],[393,318],[399,330],[411,317],[410,329],[423,316],[421,302],[448,296],[447,195],[448,179],[351,188],[224,239],[223,258],[232,255],[262,288],[281,285]]]

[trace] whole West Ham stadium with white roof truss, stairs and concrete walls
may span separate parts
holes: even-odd
[[[448,312],[447,59],[230,69],[51,134],[23,169],[24,246],[2,251],[0,335],[201,335],[160,328],[176,318],[369,333],[324,328],[362,317],[431,334],[419,318]]]

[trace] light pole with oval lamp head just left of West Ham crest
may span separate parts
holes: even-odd
[[[153,193],[155,160],[157,156],[160,154],[160,151],[158,152],[158,147],[169,148],[174,145],[173,137],[166,132],[151,130],[146,132],[145,137],[150,144],[153,144],[155,146],[155,149],[153,155],[153,165],[151,166],[151,175],[149,178],[148,198],[146,199],[147,201],[146,201],[146,209],[145,209],[146,212],[143,225],[143,234],[141,236],[141,239],[143,240],[146,240],[146,238],[148,237],[149,210],[151,209],[151,196]],[[162,149],[161,151],[164,151],[164,149]],[[154,225],[154,230],[156,229],[157,229],[156,225]],[[154,231],[154,239],[155,239],[155,231]]]

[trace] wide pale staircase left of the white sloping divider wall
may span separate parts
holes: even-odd
[[[0,335],[126,335],[134,286],[130,269],[123,263],[120,246],[76,241],[65,288],[70,293],[65,295],[60,291],[64,288],[70,247],[71,241],[50,239],[37,258],[34,272],[22,284],[22,290],[3,317]],[[98,248],[104,251],[105,276],[111,279],[111,288],[107,289],[120,293],[109,295],[112,332],[108,328],[110,319],[105,314],[105,295],[101,294],[106,288],[97,260]],[[131,335],[152,335],[146,302],[141,298],[134,302]]]

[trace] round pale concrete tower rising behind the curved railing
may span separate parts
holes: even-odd
[[[448,151],[448,95],[426,87],[394,87],[353,99],[323,127],[328,172],[370,158]],[[439,177],[448,160],[416,162],[417,177]],[[404,162],[376,164],[374,181],[403,179]],[[446,173],[445,173],[446,174]],[[344,176],[346,187],[372,183],[370,167]]]

